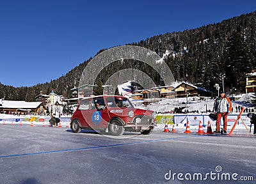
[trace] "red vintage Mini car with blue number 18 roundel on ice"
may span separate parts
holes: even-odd
[[[74,133],[87,129],[116,136],[124,132],[147,135],[152,132],[155,120],[156,112],[135,109],[124,96],[103,95],[81,100],[72,115],[70,128]]]

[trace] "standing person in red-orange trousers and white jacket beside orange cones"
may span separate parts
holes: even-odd
[[[227,134],[227,117],[232,110],[232,104],[227,98],[224,91],[221,91],[220,96],[214,102],[214,114],[217,114],[216,119],[216,134],[220,134],[220,119],[223,118],[223,133]]]

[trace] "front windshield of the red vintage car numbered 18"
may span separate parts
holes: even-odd
[[[111,96],[106,98],[108,107],[132,107],[132,104],[128,98]]]

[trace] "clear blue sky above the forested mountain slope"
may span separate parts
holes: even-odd
[[[0,82],[50,82],[100,49],[255,10],[255,0],[0,0]]]

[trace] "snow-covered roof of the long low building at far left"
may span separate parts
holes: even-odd
[[[25,101],[11,101],[11,100],[1,100],[1,107],[4,109],[35,109],[42,102],[25,102]]]

